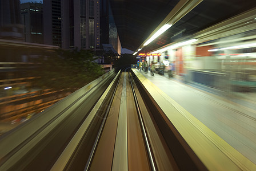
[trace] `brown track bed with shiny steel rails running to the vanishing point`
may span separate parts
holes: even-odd
[[[59,170],[59,165],[64,170],[204,170],[188,155],[177,163],[131,72],[124,70],[117,80],[95,115],[90,135],[87,132],[65,165],[59,157],[52,170]]]

